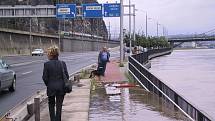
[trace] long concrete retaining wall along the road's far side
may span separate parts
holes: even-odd
[[[30,48],[43,48],[58,45],[58,36],[43,35],[32,33],[32,41],[30,42],[30,33],[17,30],[1,30],[0,29],[0,56],[13,54],[30,54]],[[65,52],[74,51],[96,51],[102,46],[116,47],[119,42],[109,41],[108,44],[103,40],[93,40],[88,38],[67,37],[61,38],[61,50]]]

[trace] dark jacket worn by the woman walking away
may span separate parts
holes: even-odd
[[[65,95],[62,65],[69,78],[65,62],[52,59],[44,63],[42,78],[47,87],[47,96]]]

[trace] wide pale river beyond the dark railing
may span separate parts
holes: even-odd
[[[150,71],[215,120],[215,49],[174,50]]]

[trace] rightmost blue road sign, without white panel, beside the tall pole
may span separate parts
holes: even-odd
[[[104,17],[120,17],[120,3],[104,4]]]

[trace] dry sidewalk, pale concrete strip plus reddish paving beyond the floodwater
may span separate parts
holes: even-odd
[[[124,70],[120,71],[117,60],[107,63],[106,73],[103,80],[105,83],[122,82],[126,80]],[[66,94],[63,109],[62,121],[88,121],[90,107],[90,79],[81,79],[81,87],[74,86],[70,94]],[[48,104],[43,106],[40,113],[41,121],[50,121]],[[29,121],[34,121],[32,117]]]

